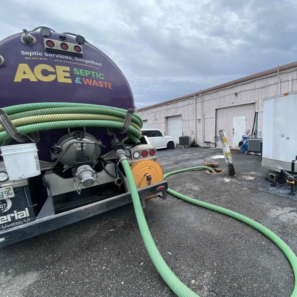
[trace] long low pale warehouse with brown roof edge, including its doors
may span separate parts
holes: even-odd
[[[219,130],[225,129],[236,148],[248,130],[262,138],[263,99],[296,91],[297,62],[233,80],[209,89],[138,109],[143,128],[165,135],[190,136],[199,146],[221,148]]]

